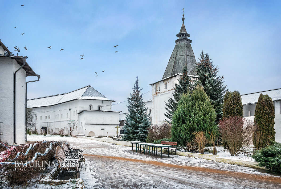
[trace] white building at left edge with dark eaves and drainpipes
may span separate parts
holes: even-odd
[[[38,75],[26,63],[25,57],[14,56],[0,41],[1,142],[25,144],[26,76]]]

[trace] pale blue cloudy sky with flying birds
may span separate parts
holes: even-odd
[[[120,102],[127,100],[136,77],[144,101],[151,99],[149,84],[162,79],[182,25],[182,8],[196,60],[207,52],[230,91],[281,88],[281,1],[0,3],[1,41],[15,54],[18,46],[19,55],[28,56],[27,63],[41,76],[28,83],[28,99],[91,85],[116,101],[112,110],[127,112],[127,102]]]

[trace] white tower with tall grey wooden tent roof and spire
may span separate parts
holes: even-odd
[[[184,17],[182,17],[182,27],[180,33],[176,35],[178,39],[175,41],[176,45],[169,59],[167,68],[160,81],[150,84],[152,86],[152,99],[146,101],[146,107],[151,113],[151,124],[160,124],[165,121],[166,104],[170,97],[173,97],[175,83],[182,74],[184,66],[187,66],[188,74],[191,80],[198,79],[194,72],[196,60],[191,47],[191,40],[188,39],[190,35],[186,32],[184,26]],[[149,113],[148,112],[148,113]]]

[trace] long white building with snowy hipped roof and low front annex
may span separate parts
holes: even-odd
[[[119,111],[111,111],[112,102],[89,85],[69,93],[29,99],[27,104],[36,112],[37,130],[44,126],[50,133],[64,130],[64,134],[99,136],[116,135]]]

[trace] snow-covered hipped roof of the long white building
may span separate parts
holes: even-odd
[[[99,93],[96,89],[88,85],[83,88],[64,94],[29,99],[27,100],[27,107],[35,108],[35,107],[42,107],[42,106],[53,106],[56,104],[61,104],[76,99],[105,100],[105,101],[115,102],[114,100],[110,100],[106,98],[104,95]]]

